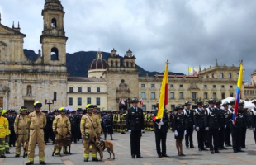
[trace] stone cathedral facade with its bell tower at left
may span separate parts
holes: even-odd
[[[40,36],[42,51],[36,62],[26,59],[26,35],[20,25],[7,27],[0,20],[0,106],[6,110],[25,105],[32,110],[34,101],[43,106],[54,101],[51,109],[66,105],[67,67],[64,8],[59,0],[45,0],[42,10],[44,29]],[[46,108],[45,108],[46,109]]]

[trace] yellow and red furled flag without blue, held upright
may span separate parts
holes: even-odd
[[[156,119],[162,119],[164,115],[164,106],[168,104],[168,60],[165,66],[164,78],[160,90],[159,111]]]

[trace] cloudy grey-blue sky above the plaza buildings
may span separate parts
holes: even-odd
[[[24,48],[41,48],[45,0],[0,0],[2,24],[20,21]],[[128,49],[149,71],[187,74],[187,68],[239,66],[244,80],[256,69],[255,0],[62,0],[67,53]]]

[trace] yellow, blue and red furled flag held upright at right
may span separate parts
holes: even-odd
[[[237,112],[239,110],[240,92],[242,89],[242,85],[243,85],[243,61],[240,64],[239,77],[237,80],[236,96],[235,96],[235,110],[234,110],[234,115],[233,115],[234,124],[235,124]]]

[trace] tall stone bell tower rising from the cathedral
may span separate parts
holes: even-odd
[[[44,30],[40,36],[43,63],[48,65],[66,65],[66,42],[64,31],[64,8],[59,0],[45,0],[42,11]]]

